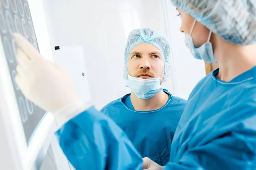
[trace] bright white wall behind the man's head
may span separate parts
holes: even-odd
[[[122,78],[124,48],[134,28],[151,28],[172,38],[172,78],[165,87],[187,98],[204,64],[191,57],[179,20],[169,0],[44,0],[44,12],[54,46],[82,45],[90,94],[96,108],[130,92]],[[166,11],[168,7],[168,12]]]

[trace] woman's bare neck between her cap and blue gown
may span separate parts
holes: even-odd
[[[214,57],[219,65],[218,79],[229,82],[256,66],[256,45],[236,45],[213,37]]]

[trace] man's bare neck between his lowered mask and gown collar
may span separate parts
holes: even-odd
[[[149,99],[139,99],[133,92],[131,92],[131,103],[135,111],[153,111],[157,110],[169,99],[169,95],[164,91],[160,91]]]

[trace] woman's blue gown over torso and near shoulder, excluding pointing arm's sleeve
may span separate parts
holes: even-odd
[[[230,82],[218,71],[190,94],[167,169],[256,169],[256,67]]]

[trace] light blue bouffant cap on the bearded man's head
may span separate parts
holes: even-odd
[[[125,65],[124,65],[124,78],[128,79],[127,62],[130,56],[131,50],[141,43],[148,43],[158,48],[163,56],[165,62],[165,78],[169,77],[170,72],[170,57],[171,57],[171,42],[168,37],[163,34],[158,34],[149,28],[134,29],[128,36],[127,44],[125,47]]]

